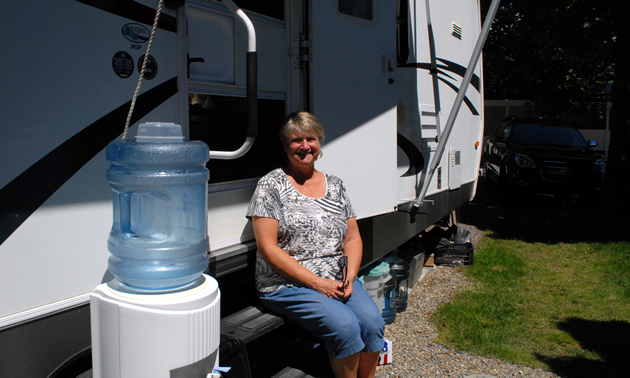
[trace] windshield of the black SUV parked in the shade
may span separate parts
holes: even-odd
[[[587,148],[582,135],[574,129],[519,124],[512,141],[517,144]]]

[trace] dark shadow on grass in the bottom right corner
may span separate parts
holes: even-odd
[[[627,377],[630,357],[630,323],[570,318],[558,323],[580,347],[599,355],[599,360],[584,357],[548,357],[535,354],[551,370],[563,377]]]

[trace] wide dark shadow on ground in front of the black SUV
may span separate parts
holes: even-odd
[[[479,184],[474,200],[458,211],[458,221],[500,239],[575,243],[628,241],[625,211],[605,205],[603,196],[576,203],[541,197],[514,197],[496,185]]]

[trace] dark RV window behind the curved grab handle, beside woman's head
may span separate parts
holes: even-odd
[[[245,141],[247,106],[242,97],[191,94],[190,139],[210,150],[234,151]],[[235,160],[210,160],[210,183],[260,177],[280,166],[284,153],[278,131],[285,118],[284,100],[258,100],[258,135],[249,152]]]

